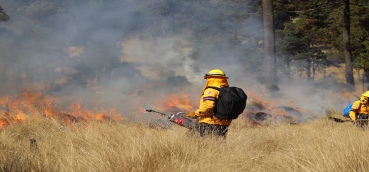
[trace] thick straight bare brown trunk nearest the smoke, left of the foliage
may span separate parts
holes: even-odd
[[[277,84],[276,43],[273,19],[273,0],[263,0],[264,75],[265,84]]]

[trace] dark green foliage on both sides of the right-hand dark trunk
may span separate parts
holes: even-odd
[[[277,53],[285,66],[298,62],[300,67],[307,67],[307,78],[310,70],[314,76],[320,67],[342,63],[342,31],[343,7],[341,1],[277,0],[276,10],[291,11],[290,20],[279,27],[277,34]],[[368,61],[368,3],[365,0],[351,1],[351,52],[354,67],[369,69]],[[298,11],[298,12],[293,12]],[[288,12],[286,12],[288,14]],[[277,24],[280,26],[280,24]],[[289,73],[287,72],[287,75]]]

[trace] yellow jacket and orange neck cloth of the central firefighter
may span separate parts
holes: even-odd
[[[200,116],[198,118],[198,122],[215,125],[230,125],[232,120],[219,119],[216,116],[213,116],[212,118],[213,109],[215,108],[215,102],[218,98],[219,91],[213,88],[206,89],[208,86],[220,88],[221,86],[228,86],[228,82],[224,77],[207,78],[206,86],[201,94],[200,107],[195,111],[195,115]]]

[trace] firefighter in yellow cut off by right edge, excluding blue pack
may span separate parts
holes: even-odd
[[[357,126],[366,126],[368,125],[368,121],[356,121],[357,119],[368,119],[368,108],[369,108],[369,91],[362,94],[360,100],[355,101],[352,104],[352,108],[350,110],[350,118],[354,121],[354,124]]]

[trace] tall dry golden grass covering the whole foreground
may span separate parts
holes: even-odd
[[[89,122],[63,126],[45,117],[0,129],[1,171],[280,171],[369,169],[368,130],[327,119],[247,127],[236,120],[226,142],[185,128]],[[38,150],[31,151],[30,139]]]

